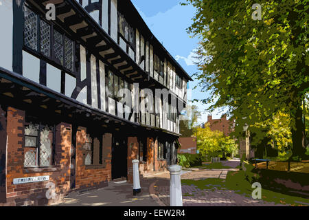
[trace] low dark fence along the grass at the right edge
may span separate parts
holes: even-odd
[[[302,162],[282,162],[271,161],[269,159],[252,159],[252,162],[256,168],[287,171],[296,173],[309,173],[309,161]]]

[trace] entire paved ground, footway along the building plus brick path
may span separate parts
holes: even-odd
[[[230,169],[183,170],[181,179],[225,179],[230,170],[238,170],[240,161],[222,162]],[[87,192],[71,192],[57,206],[170,206],[170,173],[148,173],[141,177],[141,193],[133,196],[133,184],[115,184]],[[233,190],[216,188],[200,190],[196,186],[182,186],[183,206],[283,206],[240,195]]]

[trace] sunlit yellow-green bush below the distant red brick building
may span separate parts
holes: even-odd
[[[238,146],[231,137],[225,137],[221,131],[211,131],[209,124],[205,124],[205,128],[197,128],[197,148],[205,158],[236,153]]]

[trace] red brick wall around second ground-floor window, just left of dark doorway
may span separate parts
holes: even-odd
[[[106,186],[111,181],[111,134],[103,135],[102,165],[85,166],[86,153],[83,146],[86,142],[87,129],[81,128],[76,135],[76,188]]]

